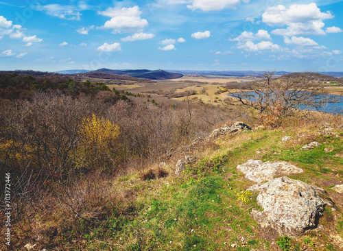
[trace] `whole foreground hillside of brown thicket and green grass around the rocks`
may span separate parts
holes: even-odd
[[[294,178],[337,195],[331,187],[343,178],[339,115],[295,115],[276,128],[207,140],[224,123],[254,128],[263,121],[256,110],[191,96],[126,96],[75,83],[74,92],[27,88],[25,97],[0,101],[0,172],[10,172],[13,185],[10,249],[339,250],[332,235],[342,236],[343,205],[326,209],[325,230],[278,239],[252,219],[257,194],[245,191],[252,182],[235,168],[250,158],[291,161],[305,170]],[[318,133],[324,123],[336,134]],[[281,143],[286,135],[292,141]],[[300,150],[314,140],[322,146]],[[185,155],[194,161],[175,176]]]

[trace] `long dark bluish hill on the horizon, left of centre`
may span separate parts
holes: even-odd
[[[143,77],[150,80],[169,80],[169,79],[179,78],[183,76],[181,73],[170,73],[163,70],[150,71],[147,69],[120,71],[120,70],[111,70],[111,69],[102,68],[93,72],[110,73],[110,74],[116,74],[116,75],[128,75],[131,77]]]

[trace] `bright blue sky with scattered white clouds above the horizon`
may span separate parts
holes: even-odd
[[[0,70],[343,71],[343,1],[0,0]]]

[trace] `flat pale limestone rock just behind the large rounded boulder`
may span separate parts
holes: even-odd
[[[285,161],[263,163],[262,160],[248,160],[248,162],[237,165],[237,169],[246,175],[246,178],[255,182],[272,180],[275,176],[302,173],[303,169],[289,164]]]

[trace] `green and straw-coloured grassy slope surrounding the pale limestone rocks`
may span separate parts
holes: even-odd
[[[312,128],[220,137],[207,150],[194,152],[198,161],[182,176],[165,167],[171,174],[166,178],[142,180],[141,174],[131,174],[110,182],[113,191],[133,196],[125,213],[104,215],[96,225],[76,218],[73,230],[58,242],[75,250],[281,250],[277,233],[261,229],[250,217],[251,209],[259,208],[257,194],[242,193],[253,182],[236,166],[254,158],[286,160],[303,168],[303,174],[291,178],[324,188],[335,202],[317,229],[292,240],[291,250],[338,251],[343,248],[343,198],[331,189],[343,178],[343,133],[338,133],[340,137],[320,136]],[[286,135],[292,139],[283,143]],[[322,145],[300,149],[314,140]]]

